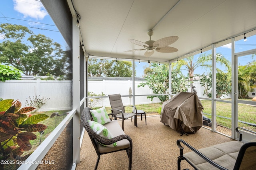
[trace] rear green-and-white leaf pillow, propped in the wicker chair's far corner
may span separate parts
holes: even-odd
[[[96,121],[102,125],[110,122],[110,119],[108,117],[108,113],[105,107],[102,107],[96,110],[90,110],[90,113],[92,115],[93,121]]]

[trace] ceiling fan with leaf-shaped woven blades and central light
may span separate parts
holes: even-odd
[[[146,50],[144,55],[146,57],[150,57],[153,53],[154,50],[160,53],[174,53],[177,52],[178,49],[174,47],[168,47],[168,45],[171,45],[175,41],[178,40],[178,36],[170,36],[170,37],[164,37],[161,39],[158,39],[157,41],[151,40],[151,36],[153,35],[152,30],[148,30],[148,36],[150,37],[149,41],[146,41],[145,43],[135,40],[135,39],[128,39],[131,43],[134,43],[136,45],[144,47],[143,49],[133,49],[129,51],[124,51],[124,52],[133,52],[133,51],[141,51],[141,50]]]

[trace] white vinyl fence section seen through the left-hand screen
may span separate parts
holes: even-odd
[[[25,107],[29,96],[50,98],[39,111],[72,109],[72,81],[37,79],[0,82],[0,98],[19,100]]]

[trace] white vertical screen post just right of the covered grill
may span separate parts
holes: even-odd
[[[212,132],[216,131],[216,44],[212,44]]]

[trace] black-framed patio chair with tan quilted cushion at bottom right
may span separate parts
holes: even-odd
[[[230,141],[211,147],[198,149],[183,141],[177,141],[180,149],[178,157],[178,170],[181,169],[180,163],[186,160],[195,170],[254,170],[256,167],[256,139],[247,143],[242,143],[242,133],[239,141]],[[192,152],[183,154],[181,143],[188,147]],[[186,169],[188,170],[188,169]]]

